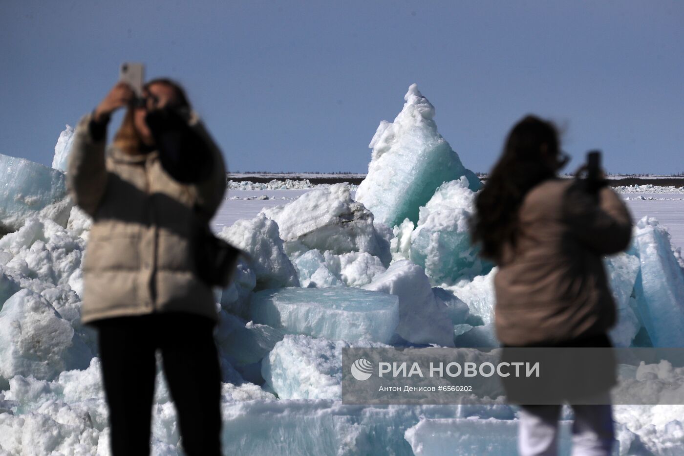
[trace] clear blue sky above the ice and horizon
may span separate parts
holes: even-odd
[[[232,170],[365,172],[416,82],[486,171],[528,112],[575,168],[684,171],[681,1],[0,1],[0,153],[51,164],[124,60],[181,81]]]

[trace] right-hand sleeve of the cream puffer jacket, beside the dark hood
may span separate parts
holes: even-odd
[[[220,149],[194,112],[190,116],[189,125],[205,141],[211,153],[212,166],[209,176],[195,184],[197,192],[196,204],[198,209],[209,220],[218,210],[226,192],[226,165]]]

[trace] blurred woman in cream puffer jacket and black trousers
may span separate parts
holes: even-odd
[[[115,456],[149,454],[157,351],[185,452],[220,455],[218,314],[193,240],[223,199],[226,169],[181,86],[155,79],[140,92],[119,82],[75,131],[68,187],[93,218],[81,319],[98,329]]]

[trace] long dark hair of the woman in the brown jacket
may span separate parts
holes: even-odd
[[[503,153],[475,199],[471,241],[482,257],[500,262],[503,246],[516,243],[518,209],[525,194],[555,176],[542,153],[560,153],[558,131],[549,121],[525,116],[508,134]]]

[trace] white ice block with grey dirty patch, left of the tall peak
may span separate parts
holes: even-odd
[[[315,188],[263,213],[278,223],[285,251],[291,257],[311,249],[337,255],[367,252],[389,263],[389,244],[373,226],[373,214],[352,200],[347,183]]]

